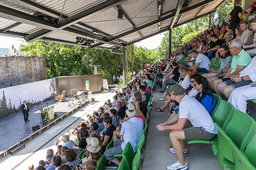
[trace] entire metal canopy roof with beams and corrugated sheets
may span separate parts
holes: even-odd
[[[224,2],[0,0],[0,35],[84,46],[77,43],[81,37],[89,48],[115,50],[209,15]]]

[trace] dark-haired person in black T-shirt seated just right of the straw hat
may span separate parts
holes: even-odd
[[[112,140],[113,132],[116,128],[114,125],[112,125],[112,119],[110,116],[104,117],[103,124],[105,127],[107,127],[102,136],[102,150],[105,151],[107,144]]]

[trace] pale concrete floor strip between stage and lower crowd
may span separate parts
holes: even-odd
[[[81,121],[84,121],[86,115],[92,114],[93,110],[97,110],[100,106],[104,105],[104,101],[107,101],[107,99],[111,100],[117,88],[119,86],[111,89],[111,92],[93,94],[95,98],[94,102],[85,105],[72,115],[69,115],[56,125],[42,132],[42,134],[32,136],[32,140],[25,141],[26,147],[15,151],[13,156],[9,153],[6,157],[1,155],[0,169],[25,170],[31,164],[37,167],[40,160],[45,160],[47,149],[52,148],[54,151],[56,150],[54,141],[59,141],[58,138],[61,135],[69,132],[70,129],[81,123]]]

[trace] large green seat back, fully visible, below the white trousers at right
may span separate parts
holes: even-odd
[[[252,136],[255,128],[256,122],[249,115],[235,110],[225,131],[236,146],[244,152],[245,145]]]

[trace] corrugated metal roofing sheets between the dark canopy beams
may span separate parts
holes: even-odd
[[[55,16],[60,15],[63,4],[65,0],[30,0],[33,3],[42,6],[43,8],[47,8],[51,11],[54,11]],[[93,7],[97,8],[97,5],[101,2],[109,3],[109,5],[112,5],[110,2],[114,1],[115,3],[118,3],[118,0],[66,0],[65,6],[63,8],[62,15],[65,17],[74,16],[77,13],[81,11],[86,11],[87,9]],[[166,17],[173,12],[169,12],[171,10],[174,10],[177,6],[179,0],[161,0],[161,15],[160,18]],[[195,7],[198,3],[203,2],[209,2],[210,0],[191,0],[188,4],[188,7]],[[26,4],[18,4],[16,3],[18,1],[15,0],[15,2],[11,0],[0,0],[0,5],[3,5],[5,7],[9,7],[11,9],[16,9],[18,11],[25,12],[30,15],[41,15],[44,11],[42,9],[28,8],[29,6],[26,6]],[[25,1],[24,1],[25,2]],[[185,5],[187,0],[185,0]],[[213,0],[212,2],[208,3],[203,9],[202,7],[204,5],[201,5],[193,10],[187,11],[184,13],[179,20],[179,23],[187,21],[191,18],[194,18],[198,15],[208,13],[209,11],[212,11],[216,9],[221,3],[223,3],[223,0]],[[129,19],[130,23],[127,19],[117,19],[118,11],[117,8],[120,10],[123,10],[124,15]],[[39,10],[40,13],[36,10]],[[202,10],[201,10],[202,9]],[[100,9],[102,10],[102,9]],[[201,11],[200,11],[201,10]],[[200,13],[198,13],[200,11]],[[1,14],[1,11],[0,11]],[[48,13],[50,14],[50,13]],[[69,28],[72,28],[73,30],[80,31],[82,33],[91,35],[93,37],[98,37],[97,42],[94,44],[97,44],[100,39],[104,42],[104,37],[107,35],[107,38],[112,38],[115,36],[119,36],[120,34],[123,34],[118,39],[115,39],[111,42],[104,42],[104,43],[111,43],[111,44],[101,44],[98,47],[104,47],[104,48],[113,48],[115,44],[117,46],[124,46],[124,43],[133,42],[133,41],[139,41],[140,38],[143,36],[150,35],[152,33],[157,33],[159,31],[158,29],[158,23],[161,25],[161,29],[166,29],[170,25],[171,18],[167,19],[162,22],[156,22],[155,24],[147,25],[148,23],[152,21],[156,21],[158,19],[158,4],[157,0],[123,0],[119,5],[112,6],[111,8],[106,8],[106,10],[102,10],[100,13],[95,13],[94,15],[90,15],[90,17],[87,17],[82,22],[85,25],[79,26],[79,25],[70,25]],[[5,17],[5,16],[4,16]],[[178,18],[176,21],[178,21]],[[1,29],[4,29],[17,21],[8,20],[8,18],[0,18],[0,34]],[[176,23],[177,24],[177,23]],[[147,25],[147,26],[145,26]],[[41,25],[40,25],[41,26]],[[133,31],[133,29],[138,27],[143,27],[139,29],[138,31]],[[145,26],[145,27],[144,27]],[[174,24],[175,26],[175,24]],[[88,29],[87,27],[90,27]],[[8,35],[17,35],[20,34],[23,36],[23,34],[35,34],[36,31],[41,30],[42,28],[36,27],[34,25],[28,25],[28,24],[20,24],[17,25],[11,29],[8,30]],[[100,34],[93,33],[92,30],[99,31]],[[167,29],[166,29],[167,30]],[[133,31],[133,33],[126,33],[128,31]],[[65,33],[68,33],[67,31]],[[77,34],[65,34],[61,31],[52,32],[52,34],[45,36],[48,39],[53,39],[56,41],[68,41],[68,42],[76,42],[76,36]],[[5,33],[7,34],[7,33]],[[40,35],[40,34],[39,34]],[[43,39],[43,37],[42,37]],[[105,40],[107,41],[107,40]],[[119,42],[121,41],[121,42]]]

